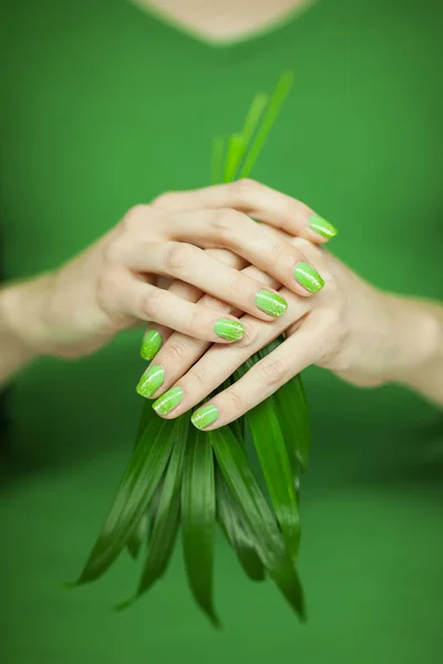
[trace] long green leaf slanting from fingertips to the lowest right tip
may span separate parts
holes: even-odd
[[[249,467],[243,446],[229,427],[207,432],[218,467],[270,577],[298,615],[305,618],[301,584],[276,519]]]

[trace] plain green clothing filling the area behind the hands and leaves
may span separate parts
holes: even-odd
[[[278,30],[214,48],[124,0],[2,0],[1,207],[6,272],[55,267],[166,189],[209,179],[215,135],[296,73],[255,176],[339,228],[334,252],[379,287],[441,295],[443,4],[319,1]],[[297,660],[441,662],[437,412],[395,386],[359,391],[309,369],[312,460],[302,486],[301,626],[249,582],[222,538],[216,633],[181,554],[124,614],[123,556],[68,592],[131,453],[142,331],[78,362],[43,360],[13,386],[0,494],[4,664]]]

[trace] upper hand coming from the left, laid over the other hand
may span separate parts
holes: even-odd
[[[182,200],[181,209],[172,209],[168,196]],[[248,215],[265,224],[256,224]],[[301,251],[269,228],[320,243],[327,238],[311,228],[312,215],[303,204],[249,180],[178,198],[163,195],[152,205],[132,208],[68,264],[12,287],[18,292],[11,318],[19,321],[23,342],[35,353],[69,357],[95,351],[121,330],[143,321],[205,341],[237,341],[243,335],[238,319],[224,314],[227,322],[220,323],[216,309],[186,301],[179,289],[169,292],[165,287],[178,280],[178,286],[192,284],[271,321],[285,312],[285,302],[272,301],[277,291],[238,270],[251,263],[299,295],[319,290],[322,280],[315,271],[313,278],[306,277],[309,261]],[[225,264],[226,251],[220,250],[235,253],[236,264],[233,260]],[[266,293],[257,299],[264,289]]]

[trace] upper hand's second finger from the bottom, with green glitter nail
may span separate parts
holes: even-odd
[[[262,282],[184,242],[127,242],[120,259],[132,270],[175,277],[261,320],[282,315],[286,301]],[[178,328],[175,328],[178,329]],[[204,339],[208,339],[205,336]]]

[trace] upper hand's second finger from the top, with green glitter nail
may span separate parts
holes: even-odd
[[[209,218],[207,210],[183,212],[173,232],[176,240],[230,249],[298,294],[309,295],[324,286],[300,249],[241,212],[220,209]]]

